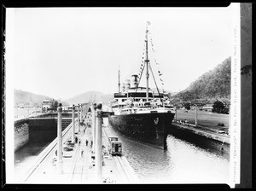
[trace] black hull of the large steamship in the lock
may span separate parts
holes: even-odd
[[[112,115],[109,124],[124,136],[145,142],[157,148],[165,148],[166,136],[172,128],[174,113],[133,113]]]

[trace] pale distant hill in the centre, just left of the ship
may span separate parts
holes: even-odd
[[[84,94],[80,94],[78,96],[73,96],[72,98],[69,98],[65,101],[69,103],[69,105],[78,104],[78,103],[84,103],[84,102],[102,102],[102,103],[108,103],[110,99],[113,98],[112,94],[103,94],[100,91],[88,91]]]

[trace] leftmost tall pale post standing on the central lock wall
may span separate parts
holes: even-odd
[[[57,169],[58,173],[63,173],[63,160],[62,160],[62,104],[59,104],[59,107],[57,108],[58,111],[58,163],[57,163]]]

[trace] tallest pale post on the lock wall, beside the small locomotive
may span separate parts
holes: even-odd
[[[102,111],[101,104],[97,106],[96,109],[96,149],[95,149],[95,159],[96,159],[96,180],[97,182],[102,182]]]

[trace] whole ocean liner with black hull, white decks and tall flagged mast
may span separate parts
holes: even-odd
[[[148,25],[146,25],[145,57],[139,75],[134,74],[125,80],[119,92],[114,93],[110,101],[113,115],[108,117],[108,123],[114,130],[138,142],[147,143],[157,148],[166,148],[166,136],[170,132],[174,111],[167,94],[160,93],[155,82],[154,73],[148,59]],[[142,87],[140,77],[146,69],[147,86]],[[157,92],[148,87],[151,70]],[[160,73],[160,72],[159,72]]]

